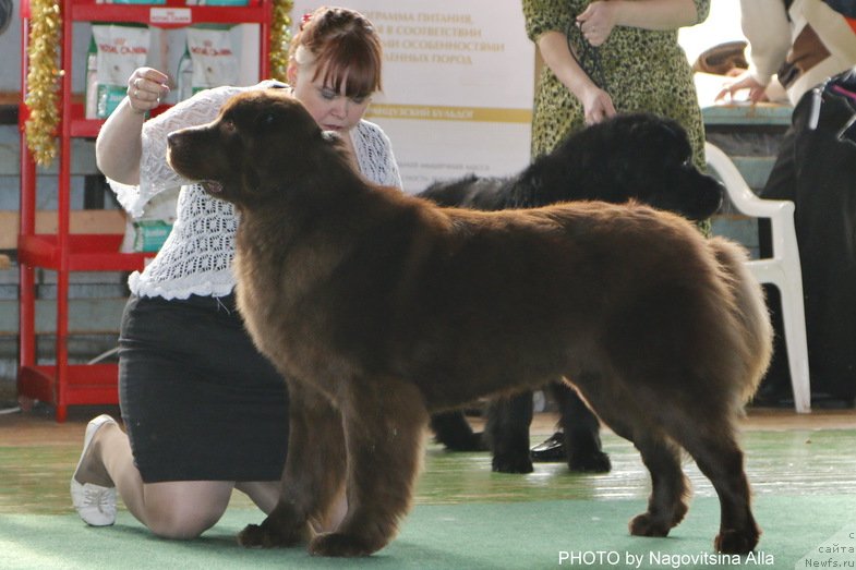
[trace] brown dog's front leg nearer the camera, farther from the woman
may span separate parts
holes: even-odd
[[[393,539],[410,508],[429,414],[422,393],[399,378],[353,378],[343,392],[348,513],[309,549],[367,556]]]

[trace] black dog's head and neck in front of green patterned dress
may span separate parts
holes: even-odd
[[[619,114],[571,134],[520,177],[520,201],[623,203],[632,198],[700,220],[722,204],[723,186],[694,166],[686,131],[648,113]]]

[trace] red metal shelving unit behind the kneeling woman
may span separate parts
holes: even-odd
[[[36,233],[36,165],[27,149],[24,123],[28,109],[27,45],[29,38],[29,2],[21,5],[21,223],[19,230],[20,267],[20,341],[17,391],[22,401],[40,400],[55,405],[57,421],[63,422],[68,407],[75,404],[113,404],[118,402],[118,371],[114,364],[70,364],[69,275],[71,271],[131,271],[142,269],[152,254],[119,252],[122,235],[72,234],[71,211],[71,140],[93,138],[103,121],[87,120],[83,105],[73,100],[72,24],[74,22],[137,22],[157,27],[174,28],[200,23],[257,24],[260,29],[260,76],[269,74],[269,41],[273,19],[272,0],[249,0],[245,7],[185,5],[185,0],[167,0],[166,4],[109,4],[94,0],[59,0],[62,13],[60,86],[61,122],[59,137],[57,233]],[[77,64],[85,53],[77,53]],[[57,271],[57,341],[56,364],[41,365],[36,355],[36,268]]]

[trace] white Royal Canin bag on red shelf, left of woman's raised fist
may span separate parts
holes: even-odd
[[[128,77],[148,58],[148,26],[93,24],[86,58],[86,118],[106,119],[124,98]]]

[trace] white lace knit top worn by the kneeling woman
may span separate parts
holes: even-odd
[[[207,89],[143,125],[140,185],[109,181],[120,204],[138,218],[156,194],[177,186],[181,186],[181,192],[172,231],[146,268],[131,275],[128,282],[132,293],[186,299],[191,294],[222,296],[232,291],[230,264],[238,215],[231,204],[212,198],[202,186],[190,184],[167,165],[167,134],[214,120],[222,104],[239,92],[272,85],[263,82],[252,87]],[[381,128],[360,121],[350,135],[363,175],[377,184],[401,187],[389,138]]]

